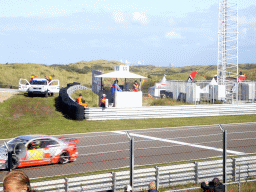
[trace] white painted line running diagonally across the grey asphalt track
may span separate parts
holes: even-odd
[[[127,134],[126,132],[123,132],[123,131],[112,131],[112,132],[113,133],[118,133],[118,134],[121,134],[121,135],[126,135]],[[223,152],[223,149],[221,149],[221,148],[208,147],[208,146],[203,146],[203,145],[191,144],[191,143],[175,141],[175,140],[170,140],[170,139],[162,139],[162,138],[151,137],[151,136],[146,136],[146,135],[139,135],[139,134],[136,134],[136,133],[129,133],[129,135],[134,136],[134,137],[151,139],[151,140],[155,140],[155,141],[163,141],[163,142],[167,142],[167,143],[174,143],[174,144],[185,145],[185,146],[189,146],[189,147],[196,147],[196,148],[201,148],[201,149],[209,149],[209,150]],[[231,154],[234,154],[234,155],[245,155],[245,153],[243,153],[243,152],[232,151],[232,150],[227,150],[227,153],[231,153]]]

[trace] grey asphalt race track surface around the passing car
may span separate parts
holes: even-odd
[[[256,153],[256,123],[226,124],[222,127],[228,133],[227,155]],[[218,125],[128,132],[134,138],[135,166],[222,156],[223,132]],[[79,157],[75,162],[20,169],[30,178],[39,178],[129,167],[130,140],[126,131],[65,136],[79,139]],[[0,144],[4,141],[0,140]],[[0,181],[5,174],[6,171],[0,171]]]

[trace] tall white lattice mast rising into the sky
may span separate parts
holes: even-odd
[[[217,82],[225,100],[238,99],[238,8],[236,0],[219,0]]]

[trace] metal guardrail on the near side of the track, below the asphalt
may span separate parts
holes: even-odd
[[[222,180],[222,160],[198,161],[194,163],[161,166],[134,170],[135,191],[147,189],[154,181],[157,187],[169,187],[178,184],[201,183],[214,177]],[[227,180],[238,181],[256,176],[256,156],[227,159]],[[118,191],[129,184],[130,171],[118,171],[97,175],[87,175],[33,182],[34,189],[48,192],[64,191]],[[2,191],[2,189],[0,190]]]

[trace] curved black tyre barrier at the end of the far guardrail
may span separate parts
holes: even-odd
[[[84,119],[84,107],[72,100],[68,95],[68,89],[74,85],[80,85],[80,83],[69,83],[67,87],[61,88],[59,92],[59,107],[63,114],[68,115],[73,120]]]

